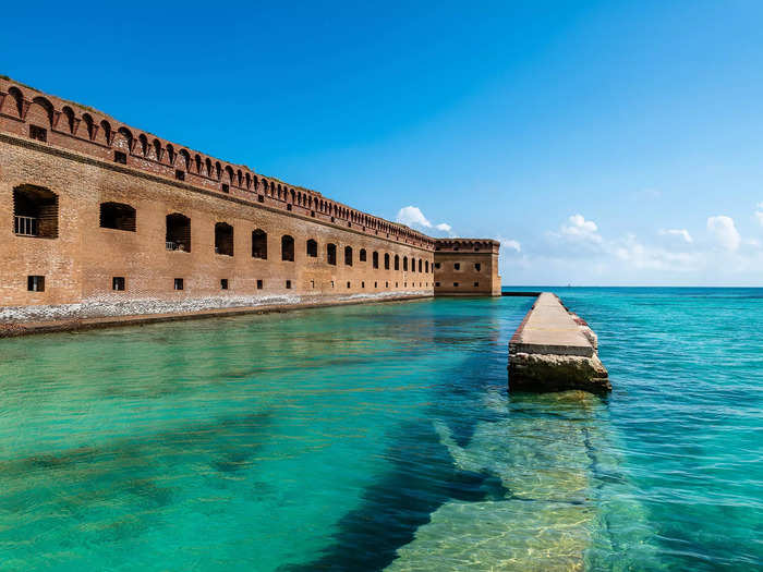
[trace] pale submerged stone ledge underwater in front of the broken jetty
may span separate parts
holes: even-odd
[[[610,479],[631,492],[633,487],[613,459],[601,459],[611,439],[606,403],[578,391],[494,392],[485,405],[500,418],[477,424],[465,447],[446,424],[435,427],[456,466],[497,475],[505,494],[444,503],[388,570],[600,570],[608,568],[614,550],[625,570],[656,569],[653,531],[638,500],[622,500],[620,490],[614,511],[627,510],[628,543],[614,540],[608,526]]]

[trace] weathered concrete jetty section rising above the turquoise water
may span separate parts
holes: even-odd
[[[509,342],[512,391],[611,390],[589,325],[550,292],[542,292]]]

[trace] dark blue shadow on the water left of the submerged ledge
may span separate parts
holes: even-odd
[[[457,337],[437,341],[446,345],[463,343]],[[332,544],[320,557],[279,570],[383,570],[395,560],[398,548],[411,543],[416,530],[429,522],[431,514],[444,503],[498,500],[506,496],[495,474],[459,468],[433,424],[433,419],[440,419],[459,443],[467,445],[477,422],[497,418],[489,411],[475,409],[489,386],[484,375],[487,358],[485,353],[475,353],[464,360],[453,368],[451,381],[434,388],[431,411],[396,427],[385,439],[395,443],[385,453],[389,471],[365,489],[361,506],[339,521]]]

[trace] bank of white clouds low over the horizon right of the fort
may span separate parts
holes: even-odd
[[[763,205],[759,205],[763,212]],[[657,240],[663,235],[665,240]],[[546,242],[522,243],[521,253],[501,240],[505,283],[524,284],[760,284],[763,241],[742,238],[728,216],[707,218],[707,232],[664,229],[642,241],[608,236],[582,215],[568,217]]]

